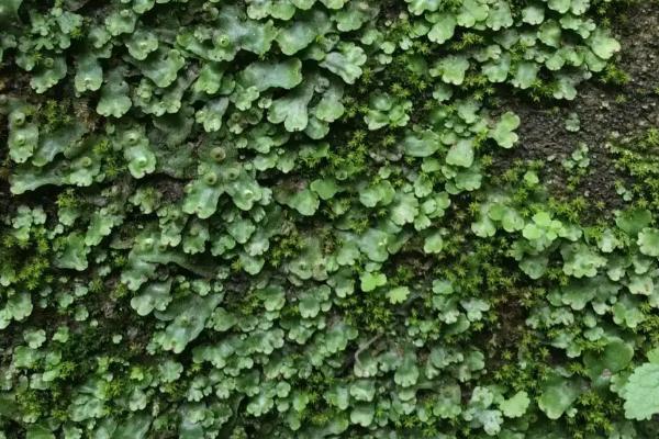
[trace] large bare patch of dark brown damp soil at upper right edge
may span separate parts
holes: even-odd
[[[597,213],[610,215],[624,204],[616,192],[616,181],[628,179],[615,167],[611,143],[659,126],[659,2],[639,1],[628,7],[614,18],[613,27],[622,45],[616,65],[626,72],[628,81],[610,85],[591,79],[578,88],[577,99],[559,105],[532,102],[522,95],[506,97],[501,103],[522,120],[516,148],[501,159],[505,164],[520,158],[543,161],[544,181],[552,194],[583,195],[592,206],[600,205]],[[578,132],[566,127],[570,113],[579,117]],[[580,143],[589,147],[590,166],[576,189],[569,191],[571,172],[561,162]]]

